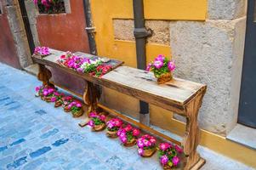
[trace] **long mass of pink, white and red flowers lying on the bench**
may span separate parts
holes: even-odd
[[[66,52],[57,60],[60,65],[72,70],[88,73],[94,77],[102,77],[111,70],[111,65],[105,65],[104,59],[88,59]]]

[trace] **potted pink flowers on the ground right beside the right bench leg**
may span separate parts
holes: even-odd
[[[177,167],[179,164],[178,154],[183,153],[182,148],[178,145],[173,145],[169,143],[161,143],[158,147],[159,159],[164,169],[171,169],[172,167]]]

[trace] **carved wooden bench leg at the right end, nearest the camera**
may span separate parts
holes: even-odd
[[[202,105],[203,93],[185,106],[187,123],[185,137],[183,139],[184,152],[186,157],[185,169],[199,169],[205,163],[196,148],[199,144],[199,127],[197,122],[198,111]]]

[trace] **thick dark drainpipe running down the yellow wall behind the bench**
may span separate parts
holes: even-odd
[[[144,4],[143,0],[133,0],[134,6],[134,37],[136,42],[137,68],[145,70],[146,38],[151,36],[151,30],[145,28]],[[149,105],[144,101],[139,101],[139,122],[145,125],[150,123]]]

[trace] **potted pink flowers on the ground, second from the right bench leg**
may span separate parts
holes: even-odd
[[[156,151],[156,139],[149,134],[145,134],[137,140],[137,146],[139,156],[150,157]]]

